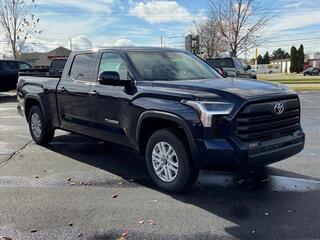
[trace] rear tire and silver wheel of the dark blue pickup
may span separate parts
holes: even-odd
[[[38,106],[30,109],[28,123],[30,134],[36,144],[46,145],[53,140],[54,129],[50,127]]]

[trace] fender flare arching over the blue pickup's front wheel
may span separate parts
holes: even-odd
[[[196,144],[194,142],[191,130],[188,127],[186,121],[182,117],[180,117],[176,114],[173,114],[173,113],[157,111],[157,110],[148,110],[148,111],[143,112],[139,117],[137,128],[136,128],[136,142],[137,143],[139,143],[141,125],[142,125],[143,121],[147,118],[161,118],[164,120],[169,120],[169,121],[177,123],[182,128],[184,134],[186,135],[187,142],[188,142],[188,145],[191,150],[192,158],[195,159],[195,157],[196,157]]]

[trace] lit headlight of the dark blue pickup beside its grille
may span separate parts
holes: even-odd
[[[212,116],[228,115],[232,112],[232,109],[234,108],[234,104],[228,102],[182,100],[181,103],[188,105],[197,111],[204,127],[211,127]]]

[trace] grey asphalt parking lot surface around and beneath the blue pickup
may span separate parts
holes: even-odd
[[[58,131],[31,141],[0,94],[0,236],[12,239],[320,239],[320,93],[301,92],[306,148],[243,175],[213,169],[182,195],[134,152]]]

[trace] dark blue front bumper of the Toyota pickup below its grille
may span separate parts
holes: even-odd
[[[258,168],[289,158],[304,148],[305,134],[292,135],[259,143],[242,143],[238,138],[197,140],[200,166]]]

